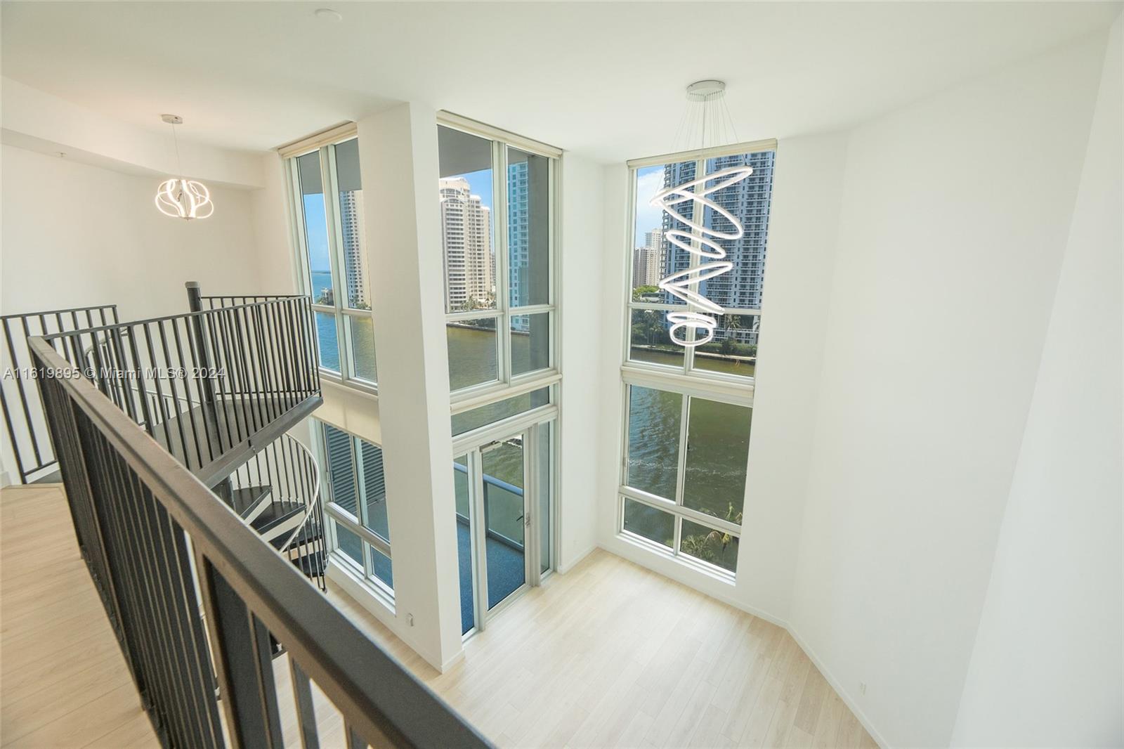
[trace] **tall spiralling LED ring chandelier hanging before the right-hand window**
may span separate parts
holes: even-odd
[[[698,123],[699,160],[706,159],[708,148],[725,145],[727,142],[737,142],[733,118],[726,107],[725,93],[726,84],[722,81],[697,81],[687,87],[687,112],[679,127],[680,138],[685,130],[690,137],[690,130],[694,129],[695,123]],[[652,207],[661,209],[671,218],[672,226],[681,224],[688,227],[668,229],[663,233],[663,237],[670,244],[698,259],[698,262],[691,262],[689,268],[660,279],[658,285],[663,291],[682,299],[688,305],[687,312],[667,314],[667,319],[671,323],[668,335],[681,346],[695,348],[714,340],[718,316],[726,310],[722,305],[704,296],[699,291],[699,285],[734,269],[734,264],[725,260],[726,250],[719,244],[719,240],[740,240],[745,234],[742,222],[708,196],[741,182],[752,173],[752,166],[729,166],[710,174],[704,173],[697,179],[660,190],[650,201]],[[681,204],[691,205],[691,218],[680,213]],[[719,231],[714,226],[706,226],[707,208],[726,219],[729,228]],[[695,332],[692,336],[682,335],[691,331]]]

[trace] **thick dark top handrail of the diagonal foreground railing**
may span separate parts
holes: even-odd
[[[43,336],[28,343],[47,369],[67,366]],[[361,737],[400,746],[489,746],[92,382],[58,382],[187,532],[197,556],[221,574]]]

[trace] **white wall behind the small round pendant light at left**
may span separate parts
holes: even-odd
[[[251,193],[214,187],[215,214],[184,222],[153,204],[158,180],[0,146],[0,309],[116,303],[121,319],[187,310],[203,294],[259,291]]]

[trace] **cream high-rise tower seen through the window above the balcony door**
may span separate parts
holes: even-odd
[[[441,180],[441,242],[445,298],[451,310],[490,306],[496,288],[491,210],[462,177]]]

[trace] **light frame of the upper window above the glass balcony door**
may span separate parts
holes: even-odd
[[[561,186],[561,148],[540,143],[531,138],[509,133],[448,111],[437,112],[436,125],[460,130],[469,135],[486,138],[492,148],[492,250],[496,256],[496,308],[473,309],[468,312],[445,313],[445,323],[466,319],[496,321],[496,379],[479,382],[450,391],[452,414],[478,408],[490,403],[529,392],[561,379],[561,352],[559,337],[561,335],[561,306],[558,247],[560,246],[559,197]],[[550,197],[547,200],[547,303],[540,305],[510,306],[510,268],[508,246],[508,148],[516,148],[536,156],[547,159],[547,183]],[[444,272],[444,270],[442,271]],[[444,287],[443,279],[443,287]],[[443,308],[447,305],[442,300]],[[513,374],[511,366],[511,318],[523,315],[549,314],[547,367]]]

